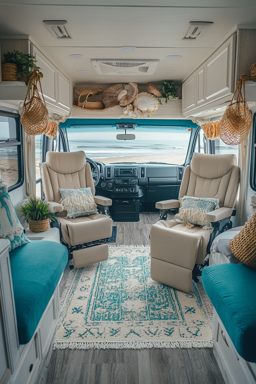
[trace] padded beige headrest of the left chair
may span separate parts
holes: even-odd
[[[47,152],[45,162],[53,171],[69,174],[82,169],[86,163],[86,157],[84,151]]]

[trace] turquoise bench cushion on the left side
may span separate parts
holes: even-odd
[[[68,262],[68,250],[56,242],[34,240],[10,253],[20,344],[32,338]]]

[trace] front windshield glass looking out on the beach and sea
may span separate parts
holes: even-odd
[[[191,129],[190,129],[191,131]],[[187,127],[136,127],[127,134],[135,140],[117,140],[124,130],[116,127],[68,128],[70,151],[84,151],[86,156],[104,164],[116,162],[164,162],[184,164],[190,131]]]

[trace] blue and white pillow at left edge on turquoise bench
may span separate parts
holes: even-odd
[[[0,179],[0,238],[10,240],[10,249],[13,250],[30,242],[23,230],[7,192],[7,185]]]

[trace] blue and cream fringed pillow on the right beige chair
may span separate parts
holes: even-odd
[[[203,229],[211,229],[211,222],[205,220],[205,214],[219,207],[220,199],[211,197],[189,197],[180,199],[179,213],[175,215],[178,223],[185,224],[188,228],[200,225]]]

